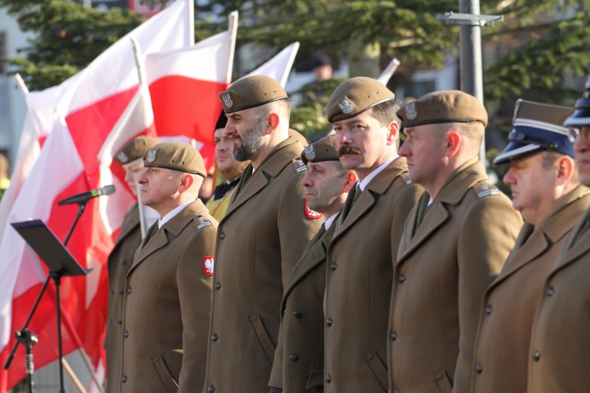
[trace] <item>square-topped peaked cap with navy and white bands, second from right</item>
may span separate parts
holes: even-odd
[[[568,107],[517,100],[508,146],[493,164],[507,163],[541,150],[553,150],[573,157],[573,143],[568,138],[566,127],[562,127],[571,113],[573,109]]]

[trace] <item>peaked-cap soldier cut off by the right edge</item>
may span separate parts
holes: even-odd
[[[578,179],[590,186],[590,79],[564,122]],[[528,393],[590,390],[590,210],[571,230],[544,282],[531,332]]]

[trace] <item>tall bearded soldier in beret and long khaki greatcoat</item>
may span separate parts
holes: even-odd
[[[244,77],[220,94],[233,156],[250,160],[217,230],[206,392],[266,392],[287,277],[321,226],[305,202],[303,145],[289,137],[276,80]]]

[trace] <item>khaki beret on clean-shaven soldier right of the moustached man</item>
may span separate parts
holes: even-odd
[[[481,122],[488,125],[488,112],[473,95],[458,90],[434,91],[406,102],[397,116],[404,127],[445,122]]]

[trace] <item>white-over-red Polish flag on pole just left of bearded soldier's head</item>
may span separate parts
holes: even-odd
[[[158,137],[195,145],[207,170],[215,165],[213,131],[231,82],[238,12],[229,29],[191,48],[147,55],[145,69]]]

